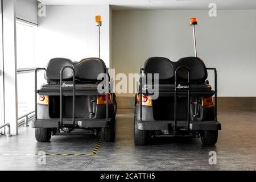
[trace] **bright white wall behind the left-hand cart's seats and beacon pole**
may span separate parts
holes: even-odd
[[[98,57],[96,15],[102,16],[101,59],[109,67],[109,5],[46,6],[46,16],[38,18],[35,28],[36,65],[46,67],[53,57]]]

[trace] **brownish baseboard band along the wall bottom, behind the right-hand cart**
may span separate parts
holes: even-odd
[[[256,97],[218,97],[218,109],[256,109]],[[117,97],[117,107],[133,109],[134,97]]]

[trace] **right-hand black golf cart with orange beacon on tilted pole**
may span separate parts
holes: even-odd
[[[195,33],[196,20],[192,19],[191,24]],[[214,90],[207,80],[210,70],[214,71]],[[152,76],[152,83],[148,84],[148,73],[158,73],[158,83]],[[149,92],[154,87],[158,87],[155,100]],[[165,57],[149,58],[141,68],[137,90],[135,145],[147,144],[151,137],[158,135],[200,136],[206,146],[217,142],[221,130],[217,121],[217,71],[205,67],[199,57],[183,57],[176,62]]]

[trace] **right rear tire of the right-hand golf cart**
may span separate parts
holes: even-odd
[[[218,140],[218,130],[201,131],[200,138],[204,146],[213,146]]]

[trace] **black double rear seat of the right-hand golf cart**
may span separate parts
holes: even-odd
[[[191,95],[213,96],[212,87],[205,82],[207,69],[199,57],[184,57],[176,62],[172,62],[165,57],[150,57],[144,64],[144,73],[159,73],[159,84],[157,85],[159,93],[174,93],[175,71],[180,66],[187,67],[191,72]],[[187,82],[187,70],[184,68],[179,69],[177,78],[181,82]],[[145,84],[142,86],[144,92],[146,92],[146,88],[152,88],[152,85]],[[179,92],[187,93],[186,90],[180,90]]]

